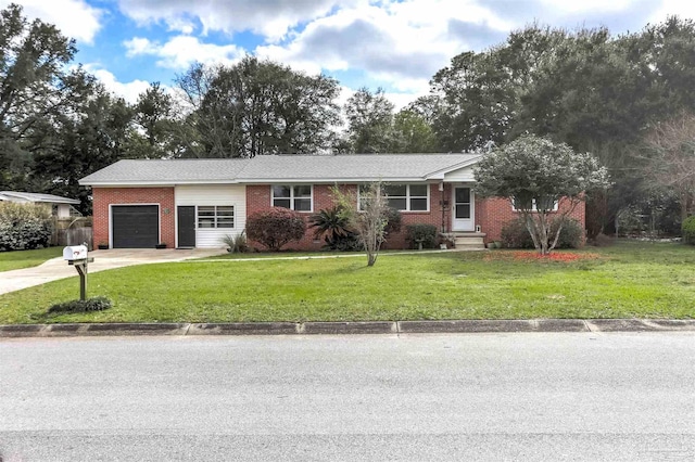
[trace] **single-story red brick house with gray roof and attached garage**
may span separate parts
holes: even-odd
[[[381,180],[403,216],[389,248],[406,245],[405,227],[430,223],[459,244],[498,240],[518,213],[507,200],[476,197],[473,166],[482,154],[267,155],[250,159],[119,161],[80,180],[92,188],[94,244],[112,248],[222,247],[247,217],[273,206],[306,214],[333,206],[338,184]],[[563,204],[560,203],[560,207]],[[573,213],[582,226],[584,207]],[[317,249],[308,229],[291,248]]]

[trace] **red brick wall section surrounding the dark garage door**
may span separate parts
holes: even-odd
[[[174,188],[93,188],[94,245],[109,242],[109,205],[159,204],[160,240],[176,245]]]

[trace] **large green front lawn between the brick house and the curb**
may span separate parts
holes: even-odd
[[[695,318],[695,247],[619,243],[576,261],[513,251],[308,260],[190,261],[90,274],[114,307],[48,316],[77,278],[0,296],[0,323]]]

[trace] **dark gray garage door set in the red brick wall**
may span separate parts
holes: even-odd
[[[152,248],[160,242],[159,205],[112,205],[113,248]]]

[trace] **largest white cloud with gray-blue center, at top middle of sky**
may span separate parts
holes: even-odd
[[[448,33],[452,20],[492,30],[514,26],[470,0],[361,3],[313,21],[287,44],[261,46],[255,52],[312,73],[363,69],[370,80],[421,93],[434,72],[470,49]]]

